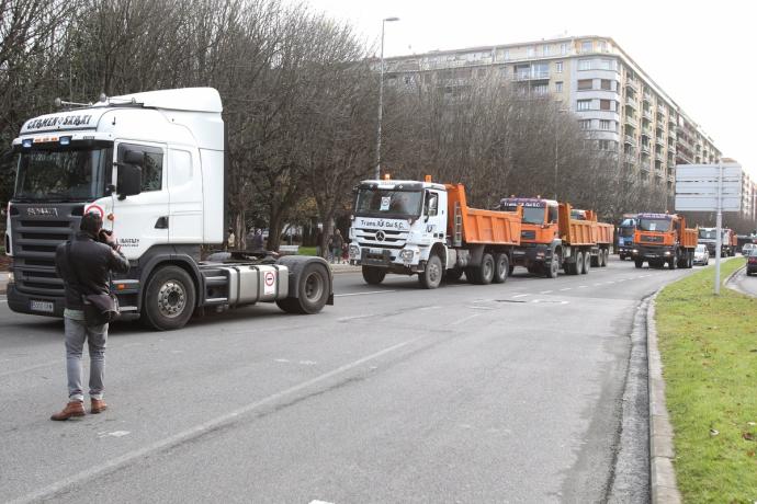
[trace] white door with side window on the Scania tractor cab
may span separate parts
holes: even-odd
[[[150,247],[168,243],[170,226],[166,181],[166,146],[116,141],[115,158],[121,163],[127,150],[144,152],[142,193],[113,202],[113,231],[127,259],[140,257]],[[115,170],[118,170],[116,164]],[[116,175],[117,180],[117,175]]]

